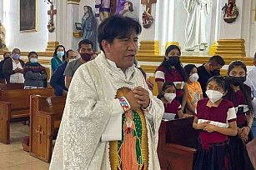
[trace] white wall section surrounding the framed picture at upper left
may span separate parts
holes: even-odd
[[[4,1],[4,2],[3,2]],[[20,32],[20,0],[2,0],[3,26],[6,28],[6,43],[9,50],[14,47],[22,51],[43,52],[48,42],[48,5],[43,0],[38,0],[38,31]]]

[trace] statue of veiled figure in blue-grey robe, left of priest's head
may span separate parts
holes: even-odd
[[[94,50],[96,50],[96,32],[97,32],[97,22],[93,15],[93,9],[89,6],[83,7],[84,14],[82,18],[82,30],[80,34],[83,35],[83,39],[88,39],[93,42]]]

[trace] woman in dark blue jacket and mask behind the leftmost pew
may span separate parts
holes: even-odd
[[[29,52],[28,62],[24,67],[24,89],[47,87],[47,73],[45,67],[38,63],[38,53]]]

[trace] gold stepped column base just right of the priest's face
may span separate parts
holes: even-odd
[[[159,55],[158,41],[141,41],[138,55]]]

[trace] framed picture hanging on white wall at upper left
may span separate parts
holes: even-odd
[[[38,31],[37,4],[38,0],[20,0],[20,28],[21,32]]]

